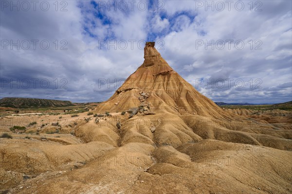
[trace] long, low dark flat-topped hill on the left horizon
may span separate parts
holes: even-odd
[[[0,99],[1,107],[11,108],[45,108],[45,107],[65,107],[73,106],[70,101],[65,100],[50,100],[39,98],[24,98],[24,97],[4,97]]]

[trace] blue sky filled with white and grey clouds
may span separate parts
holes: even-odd
[[[292,1],[0,1],[0,97],[107,100],[146,41],[214,101],[292,100]]]

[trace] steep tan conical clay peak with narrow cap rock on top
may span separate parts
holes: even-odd
[[[144,58],[144,63],[98,111],[125,111],[138,107],[145,99],[159,113],[191,113],[222,118],[223,111],[183,80],[161,57],[153,43],[146,43]],[[142,92],[149,93],[148,97],[141,96]]]

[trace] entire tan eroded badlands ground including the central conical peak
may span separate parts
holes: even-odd
[[[105,102],[1,107],[0,192],[292,193],[291,102],[219,107],[144,52]]]

